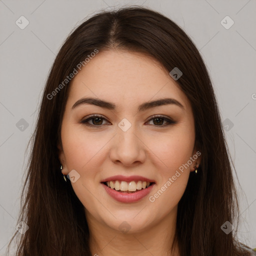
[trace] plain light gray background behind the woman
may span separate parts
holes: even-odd
[[[239,239],[256,247],[255,0],[0,0],[0,255],[15,230],[25,148],[57,51],[84,18],[134,4],[171,18],[200,49],[241,185]],[[29,21],[24,29],[15,23],[21,15]],[[229,29],[221,23],[226,15],[234,21]]]

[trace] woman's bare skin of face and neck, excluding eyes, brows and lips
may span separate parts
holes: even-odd
[[[82,97],[95,97],[116,104],[115,110],[91,104],[72,105]],[[166,104],[137,111],[139,104],[159,98],[178,100],[184,109]],[[90,120],[94,127],[80,123],[88,115],[101,114],[105,120]],[[153,115],[176,121],[165,125]],[[123,131],[118,123],[126,118],[131,127]],[[93,122],[94,121],[94,122]],[[97,127],[96,125],[100,125]],[[84,205],[90,231],[92,255],[174,255],[167,253],[175,233],[177,204],[194,164],[168,186],[154,202],[156,193],[178,168],[196,154],[194,118],[190,102],[168,71],[155,59],[123,50],[100,51],[75,75],[61,125],[59,159],[62,173],[75,169],[80,177],[71,185]],[[133,203],[110,197],[100,181],[112,175],[141,175],[155,180],[149,195]],[[126,221],[126,233],[119,225]],[[176,244],[175,242],[173,243]],[[151,255],[151,254],[150,254]]]

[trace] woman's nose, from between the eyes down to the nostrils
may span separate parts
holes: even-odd
[[[117,126],[116,133],[111,142],[111,160],[124,166],[135,166],[144,162],[147,147],[135,125],[131,125],[126,131]]]

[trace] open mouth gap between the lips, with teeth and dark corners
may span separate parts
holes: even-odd
[[[142,181],[142,180],[132,180],[129,182],[126,182],[123,180],[109,180],[101,183],[109,187],[110,189],[113,189],[121,193],[135,193],[155,184],[155,182]]]

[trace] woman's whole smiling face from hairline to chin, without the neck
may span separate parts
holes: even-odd
[[[69,89],[59,159],[86,218],[138,232],[175,216],[200,153],[189,100],[168,71],[141,53],[102,51]]]

